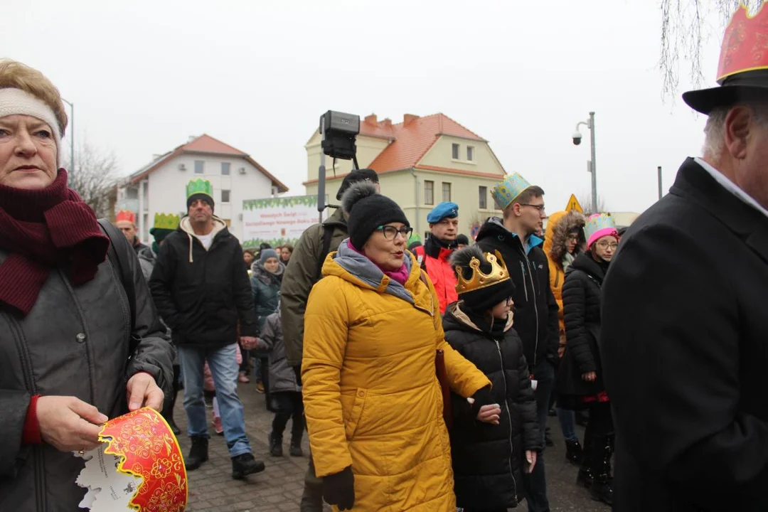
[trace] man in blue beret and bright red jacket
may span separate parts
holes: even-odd
[[[456,273],[449,263],[449,258],[458,248],[458,205],[440,203],[429,212],[427,222],[430,234],[423,246],[416,247],[414,254],[435,285],[442,315],[449,304],[458,300]]]

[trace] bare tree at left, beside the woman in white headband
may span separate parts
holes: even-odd
[[[62,158],[67,162],[68,156]],[[97,217],[109,217],[117,193],[118,163],[111,151],[103,152],[82,140],[74,153],[74,172],[69,187],[80,194]]]

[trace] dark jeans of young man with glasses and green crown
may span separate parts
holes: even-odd
[[[541,430],[541,446],[545,447],[544,434],[549,417],[549,397],[554,389],[554,367],[545,359],[531,368],[534,378],[538,381],[536,391],[536,415],[538,428]],[[549,512],[547,498],[547,477],[544,471],[544,450],[538,454],[538,460],[531,474],[523,475],[525,485],[525,500],[528,501],[528,512]]]

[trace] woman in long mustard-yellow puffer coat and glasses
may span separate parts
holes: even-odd
[[[498,424],[490,382],[445,342],[435,289],[406,241],[399,206],[358,183],[349,239],[307,304],[303,397],[314,467],[334,510],[453,512],[453,472],[437,349],[453,391]],[[485,406],[485,407],[482,407]]]

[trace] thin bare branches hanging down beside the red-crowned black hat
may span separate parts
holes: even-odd
[[[763,0],[660,0],[661,47],[658,68],[661,71],[661,95],[665,100],[677,96],[680,64],[690,64],[690,78],[695,88],[707,83],[714,74],[701,69],[701,48],[715,37],[723,37],[723,29],[740,3],[754,13]],[[715,16],[712,16],[714,14]]]

